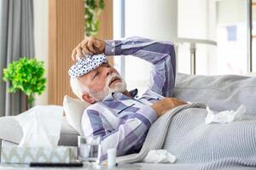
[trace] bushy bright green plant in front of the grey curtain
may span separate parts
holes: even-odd
[[[37,59],[21,58],[3,69],[3,81],[10,82],[9,93],[20,90],[26,94],[26,109],[31,108],[34,94],[42,94],[45,89],[44,62]]]

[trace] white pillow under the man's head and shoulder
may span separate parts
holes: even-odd
[[[67,122],[76,130],[80,135],[83,135],[81,119],[84,110],[90,104],[79,99],[73,99],[69,96],[64,96],[63,108],[67,116]]]

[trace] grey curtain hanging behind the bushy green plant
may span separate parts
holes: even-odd
[[[21,57],[34,57],[32,0],[0,0],[0,116],[25,111],[25,95],[3,82],[3,68]]]

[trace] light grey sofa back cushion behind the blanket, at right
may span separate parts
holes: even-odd
[[[236,110],[245,105],[256,116],[256,77],[177,74],[174,97],[201,102],[215,111]]]

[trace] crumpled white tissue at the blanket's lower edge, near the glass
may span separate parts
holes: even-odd
[[[144,162],[147,163],[174,163],[177,160],[176,156],[170,154],[167,150],[150,150]]]

